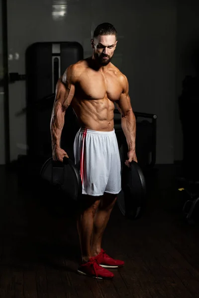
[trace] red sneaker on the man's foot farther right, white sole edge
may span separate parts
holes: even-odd
[[[118,268],[124,266],[123,261],[112,259],[105,253],[105,250],[103,250],[102,248],[101,252],[95,257],[95,259],[103,268]]]

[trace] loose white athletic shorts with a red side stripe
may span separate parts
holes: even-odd
[[[82,193],[102,196],[121,190],[121,161],[115,131],[80,129],[74,141],[75,164],[80,168]]]

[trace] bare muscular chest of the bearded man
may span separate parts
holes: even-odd
[[[115,101],[121,95],[122,88],[114,75],[88,73],[79,83],[79,92],[84,99],[108,99]]]

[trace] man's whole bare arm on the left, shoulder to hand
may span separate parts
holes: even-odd
[[[61,134],[64,127],[65,112],[75,94],[74,66],[67,68],[56,85],[56,95],[50,121],[50,131],[52,140],[52,155],[54,160],[63,161],[67,153],[60,148]]]

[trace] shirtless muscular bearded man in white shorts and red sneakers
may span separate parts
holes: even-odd
[[[78,273],[112,278],[105,268],[117,268],[123,261],[108,256],[101,248],[103,231],[121,190],[121,164],[114,132],[114,103],[121,113],[121,127],[128,145],[129,166],[137,162],[136,120],[128,94],[128,80],[110,61],[117,44],[117,32],[109,23],[100,24],[91,40],[93,55],[67,68],[57,82],[51,117],[52,153],[63,161],[60,148],[65,111],[72,106],[81,124],[74,141],[75,163],[80,169],[82,201],[77,220],[82,262]]]

